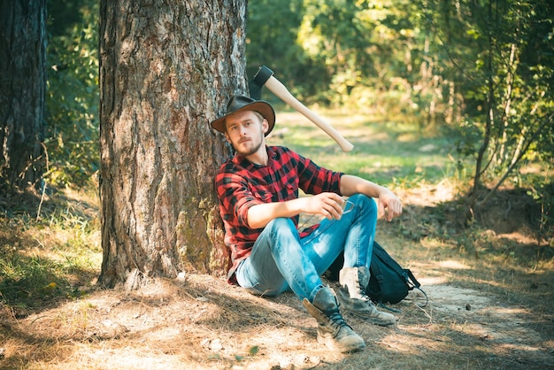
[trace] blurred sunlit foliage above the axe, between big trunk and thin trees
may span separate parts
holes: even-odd
[[[249,64],[271,61],[281,81],[305,102],[387,112],[391,118],[401,114],[423,124],[445,112],[451,119],[459,111],[456,102],[442,101],[451,81],[436,78],[438,63],[429,47],[433,43],[419,26],[425,18],[422,4],[266,3],[250,4]],[[276,27],[280,32],[273,37]]]

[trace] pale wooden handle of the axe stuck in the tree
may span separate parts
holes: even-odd
[[[335,127],[332,127],[325,119],[319,117],[316,112],[308,109],[304,104],[300,103],[295,96],[290,94],[289,89],[285,88],[281,81],[271,76],[267,81],[265,81],[264,86],[273,92],[275,96],[279,97],[283,102],[289,104],[291,107],[296,109],[297,112],[302,113],[304,117],[310,119],[316,124],[316,126],[325,131],[327,135],[331,136],[331,138],[339,144],[342,151],[350,151],[354,148],[354,145],[349,143],[341,134],[339,134],[339,132],[335,130]]]

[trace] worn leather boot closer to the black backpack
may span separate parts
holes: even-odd
[[[344,267],[339,272],[339,288],[337,296],[345,311],[358,315],[365,321],[381,326],[396,324],[395,315],[381,312],[365,294],[369,283],[369,269],[367,267]]]

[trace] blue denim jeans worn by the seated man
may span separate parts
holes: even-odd
[[[344,251],[344,267],[369,268],[377,224],[371,197],[349,198],[352,210],[340,220],[322,220],[311,235],[300,238],[288,218],[274,219],[254,243],[249,258],[236,270],[242,288],[260,296],[277,296],[292,289],[300,300],[313,301],[323,287],[320,275]]]

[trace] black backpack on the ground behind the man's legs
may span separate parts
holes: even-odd
[[[327,269],[327,278],[338,281],[339,271],[342,269],[344,256],[341,253],[335,262]],[[397,304],[402,301],[410,290],[418,289],[426,298],[427,295],[419,287],[419,281],[413,276],[412,271],[398,265],[396,260],[377,242],[373,242],[373,255],[369,267],[370,278],[365,292],[376,304]]]

